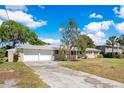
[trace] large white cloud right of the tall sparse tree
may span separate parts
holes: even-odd
[[[104,44],[105,32],[110,29],[110,26],[114,25],[112,20],[102,21],[102,22],[91,22],[84,26],[83,34],[87,34],[89,37],[93,39],[96,45]]]

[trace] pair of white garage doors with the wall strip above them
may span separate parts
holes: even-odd
[[[24,50],[24,62],[44,62],[53,60],[52,50]]]

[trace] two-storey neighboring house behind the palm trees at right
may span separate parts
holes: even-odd
[[[101,46],[97,46],[96,47],[97,49],[100,49],[101,52],[103,53],[112,53],[112,47],[111,46],[108,46],[108,45],[101,45]],[[122,53],[122,49],[120,47],[114,47],[114,50],[113,50],[114,53]]]

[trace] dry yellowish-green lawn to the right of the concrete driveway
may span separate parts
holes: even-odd
[[[83,59],[77,62],[64,62],[61,65],[124,83],[124,59]]]

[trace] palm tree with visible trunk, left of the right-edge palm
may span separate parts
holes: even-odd
[[[116,36],[111,36],[106,41],[106,45],[109,45],[112,47],[112,55],[114,55],[114,46],[117,45],[117,43],[118,43],[118,38]]]

